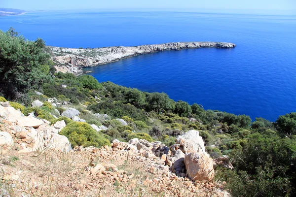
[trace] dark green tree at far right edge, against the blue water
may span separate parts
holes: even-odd
[[[274,123],[276,129],[282,134],[296,134],[296,112],[280,116]]]

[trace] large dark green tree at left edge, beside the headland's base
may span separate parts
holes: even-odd
[[[0,31],[1,94],[9,99],[19,99],[51,79],[50,56],[44,53],[44,47],[45,42],[40,38],[26,40],[12,28],[7,32]]]

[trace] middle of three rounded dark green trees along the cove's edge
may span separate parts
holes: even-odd
[[[161,110],[174,110],[175,101],[170,99],[165,93],[150,93],[146,98],[148,111],[156,111],[158,114]]]

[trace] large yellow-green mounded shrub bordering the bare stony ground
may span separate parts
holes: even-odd
[[[72,146],[110,146],[110,141],[104,135],[100,135],[87,123],[72,122],[62,129],[59,133],[68,137]]]

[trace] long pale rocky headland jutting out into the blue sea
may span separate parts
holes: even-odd
[[[115,46],[94,49],[76,49],[47,46],[58,71],[80,74],[82,67],[91,67],[116,62],[125,58],[167,50],[193,48],[234,48],[236,45],[227,42],[170,42],[141,46]]]

